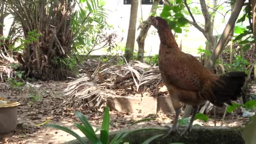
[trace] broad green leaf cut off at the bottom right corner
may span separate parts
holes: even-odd
[[[256,144],[256,115],[252,117],[251,122],[245,125],[242,137],[245,144]]]

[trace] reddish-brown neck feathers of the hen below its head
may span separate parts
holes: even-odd
[[[159,27],[158,28],[158,35],[160,37],[161,44],[166,45],[168,48],[178,48],[179,46],[175,41],[173,33],[169,27]]]

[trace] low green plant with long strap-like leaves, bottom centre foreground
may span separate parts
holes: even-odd
[[[108,137],[109,137],[109,107],[106,107],[104,110],[104,115],[103,115],[103,121],[100,129],[96,129],[96,131],[93,130],[93,127],[89,123],[88,119],[81,113],[81,112],[75,112],[75,115],[81,120],[82,124],[75,123],[75,126],[83,132],[83,134],[87,137],[89,141],[91,141],[93,144],[108,144]],[[143,121],[143,120],[141,120]],[[71,129],[61,126],[61,125],[54,125],[54,124],[47,124],[45,125],[47,127],[52,127],[56,128],[62,131],[65,131],[72,136],[75,136],[75,138],[81,143],[81,144],[86,144],[86,142],[83,140],[82,137],[80,137],[77,133],[72,131]],[[135,130],[122,130],[117,135],[115,136],[114,139],[110,142],[110,144],[120,144],[121,142],[124,142],[123,140],[130,134],[138,132],[138,131],[150,131],[150,130],[162,130],[158,128],[139,128]],[[100,131],[100,138],[96,136],[96,132]],[[149,144],[149,142],[153,141],[154,139],[163,136],[157,135],[157,136],[152,136],[151,138],[147,139],[146,141],[143,142],[143,144]]]

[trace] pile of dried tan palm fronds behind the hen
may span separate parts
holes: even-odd
[[[68,83],[64,104],[99,108],[111,96],[141,96],[145,93],[151,96],[162,80],[157,66],[140,61],[101,67],[97,67],[93,74],[85,74]]]

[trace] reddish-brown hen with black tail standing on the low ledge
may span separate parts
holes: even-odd
[[[173,126],[166,136],[177,130],[181,104],[193,107],[189,125],[181,133],[183,135],[187,131],[191,132],[199,106],[207,100],[218,107],[223,107],[224,103],[232,105],[231,100],[241,96],[247,75],[245,72],[229,72],[224,75],[211,73],[194,56],[179,50],[168,21],[152,16],[151,24],[160,37],[158,66],[176,112]]]

